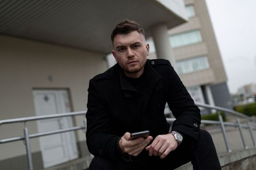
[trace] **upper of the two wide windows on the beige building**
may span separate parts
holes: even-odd
[[[173,48],[182,47],[202,42],[202,36],[199,30],[194,30],[182,34],[171,35],[170,42]]]

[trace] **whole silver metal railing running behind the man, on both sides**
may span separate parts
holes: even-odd
[[[232,127],[237,127],[240,132],[241,140],[244,146],[244,149],[247,149],[248,146],[246,145],[243,133],[242,133],[242,128],[248,129],[254,144],[254,147],[256,147],[256,142],[255,142],[255,137],[253,134],[253,131],[256,130],[256,128],[251,126],[251,122],[254,124],[256,123],[256,119],[251,118],[249,116],[246,116],[244,114],[241,114],[239,112],[236,112],[234,110],[218,107],[218,106],[212,106],[208,104],[201,104],[201,103],[196,103],[197,106],[199,107],[204,107],[207,109],[215,109],[218,112],[218,119],[219,121],[214,121],[214,120],[201,120],[201,123],[204,124],[216,124],[220,125],[221,132],[225,141],[226,149],[227,152],[232,152],[232,149],[230,147],[228,137],[227,137],[227,132],[225,126],[232,126]],[[222,119],[222,116],[220,114],[220,111],[223,111],[224,113],[232,114],[235,115],[236,122],[224,122]],[[75,126],[75,127],[69,127],[65,129],[59,129],[59,130],[53,130],[53,131],[47,131],[47,132],[41,132],[41,133],[36,133],[36,134],[29,134],[28,133],[28,128],[26,127],[26,122],[28,121],[35,121],[35,120],[41,120],[41,119],[53,119],[53,118],[60,118],[60,117],[69,117],[69,116],[78,116],[78,115],[85,115],[86,111],[80,111],[80,112],[70,112],[70,113],[62,113],[62,114],[54,114],[54,115],[45,115],[45,116],[35,116],[35,117],[26,117],[26,118],[18,118],[18,119],[6,119],[6,120],[0,120],[0,125],[2,124],[9,124],[9,123],[17,123],[17,122],[23,122],[24,123],[24,129],[23,129],[23,136],[15,136],[15,137],[10,137],[10,138],[4,138],[0,139],[0,144],[2,143],[7,143],[7,142],[13,142],[13,141],[18,141],[18,140],[24,140],[25,141],[25,147],[26,147],[26,153],[27,153],[27,163],[28,163],[28,168],[29,170],[33,170],[33,162],[32,162],[32,155],[31,155],[31,149],[30,149],[30,138],[35,138],[35,137],[40,137],[40,136],[47,136],[47,135],[53,135],[53,134],[59,134],[63,132],[69,132],[69,131],[76,131],[76,130],[84,130],[86,129],[86,120],[84,119],[84,125],[83,126]],[[246,119],[247,123],[242,124],[240,121],[240,118]],[[173,122],[175,119],[174,118],[166,118],[169,123]]]

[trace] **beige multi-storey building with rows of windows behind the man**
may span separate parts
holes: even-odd
[[[175,61],[171,60],[195,102],[233,109],[216,37],[205,0],[184,0],[187,23],[168,31]],[[150,58],[156,53],[153,39]],[[204,112],[202,112],[204,113]]]

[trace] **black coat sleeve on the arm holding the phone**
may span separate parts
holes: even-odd
[[[94,156],[116,159],[118,136],[110,133],[110,116],[106,102],[96,83],[90,80],[87,102],[86,143]]]

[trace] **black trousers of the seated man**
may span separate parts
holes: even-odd
[[[103,157],[94,157],[89,170],[174,170],[188,162],[194,170],[221,170],[211,135],[199,130],[197,143],[184,142],[164,159],[158,156],[146,156],[139,161],[113,161]]]

